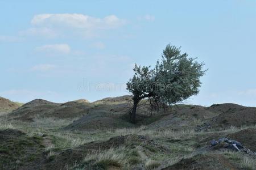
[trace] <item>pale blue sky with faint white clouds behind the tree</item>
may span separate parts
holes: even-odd
[[[256,106],[256,1],[0,1],[0,96],[126,95],[171,43],[205,63],[189,104]]]

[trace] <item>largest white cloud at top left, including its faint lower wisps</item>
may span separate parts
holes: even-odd
[[[97,37],[103,30],[116,29],[125,23],[124,19],[115,15],[96,18],[84,14],[38,14],[31,19],[32,28],[21,31],[20,35],[43,38]]]

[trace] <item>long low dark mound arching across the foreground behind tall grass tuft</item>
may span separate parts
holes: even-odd
[[[143,135],[126,135],[110,138],[108,141],[97,141],[86,143],[74,149],[68,149],[60,152],[55,156],[52,162],[46,164],[48,168],[63,169],[74,162],[79,163],[84,156],[87,154],[108,150],[110,148],[117,148],[120,146],[135,148],[136,146],[141,146],[144,148],[145,152],[150,154],[154,152],[170,152],[168,148],[163,147],[151,140],[147,136]]]

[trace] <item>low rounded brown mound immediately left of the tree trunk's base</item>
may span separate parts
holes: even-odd
[[[131,128],[134,127],[128,121],[122,120],[114,114],[108,112],[89,113],[77,121],[74,121],[71,125],[68,125],[65,130],[110,130],[116,128]]]

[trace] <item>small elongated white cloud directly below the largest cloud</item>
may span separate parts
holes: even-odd
[[[68,44],[47,44],[43,46],[38,46],[35,48],[36,52],[44,52],[50,55],[54,54],[69,54],[71,48]]]

